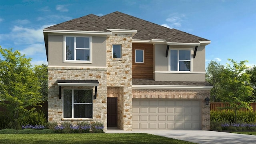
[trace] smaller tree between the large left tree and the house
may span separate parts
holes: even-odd
[[[38,78],[42,101],[48,101],[48,70],[46,64],[36,65],[34,74]]]

